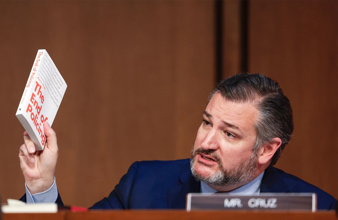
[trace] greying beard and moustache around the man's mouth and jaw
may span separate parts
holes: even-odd
[[[198,172],[194,164],[195,164],[195,157],[199,153],[203,153],[203,154],[213,157],[215,161],[218,163],[219,169],[207,175],[203,175],[201,172]],[[204,150],[202,148],[198,148],[194,151],[194,146],[193,146],[191,150],[190,169],[191,169],[192,175],[198,181],[203,181],[207,184],[211,184],[211,185],[219,186],[219,187],[234,186],[238,184],[245,184],[251,181],[256,171],[257,160],[258,160],[258,157],[256,155],[256,152],[252,152],[248,160],[242,161],[239,165],[233,166],[232,168],[224,168],[222,160],[215,153],[215,150]],[[201,165],[206,166],[205,164],[201,164]]]

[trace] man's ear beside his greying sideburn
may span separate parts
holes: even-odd
[[[257,152],[258,163],[261,165],[268,163],[281,144],[280,138],[273,138],[269,143],[263,144]]]

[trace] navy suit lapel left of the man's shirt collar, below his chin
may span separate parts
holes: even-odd
[[[172,186],[168,190],[169,209],[185,209],[187,193],[199,193],[199,181],[192,176],[190,167],[179,176],[180,184]]]

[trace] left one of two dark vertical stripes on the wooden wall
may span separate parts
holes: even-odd
[[[215,52],[216,52],[216,83],[222,80],[223,70],[223,1],[215,1]]]

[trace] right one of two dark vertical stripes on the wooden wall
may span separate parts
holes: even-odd
[[[249,2],[241,0],[241,71],[248,72],[248,18]]]

